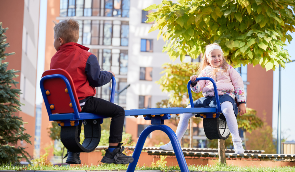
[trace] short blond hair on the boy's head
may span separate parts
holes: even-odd
[[[65,43],[78,42],[79,39],[79,22],[74,19],[63,20],[55,23],[53,27],[55,38],[63,38]]]

